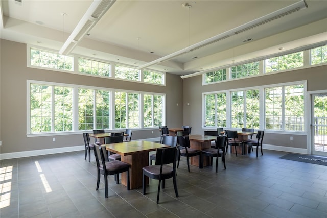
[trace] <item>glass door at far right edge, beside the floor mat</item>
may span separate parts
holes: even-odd
[[[312,154],[327,156],[327,93],[312,95]]]

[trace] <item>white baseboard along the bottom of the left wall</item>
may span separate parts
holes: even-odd
[[[141,139],[145,141],[160,141],[160,138],[147,138]],[[24,152],[12,152],[12,153],[4,153],[0,154],[0,160],[20,158],[20,157],[32,157],[38,155],[47,155],[47,154],[57,154],[64,152],[75,152],[75,151],[83,151],[85,150],[84,144],[82,146],[71,146],[71,147],[63,147],[63,148],[54,148],[54,149],[40,149],[33,151],[24,151]]]

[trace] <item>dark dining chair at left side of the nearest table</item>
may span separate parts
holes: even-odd
[[[96,156],[96,162],[97,162],[97,188],[96,190],[99,190],[99,184],[100,184],[100,175],[104,175],[104,185],[105,185],[105,197],[108,198],[108,176],[109,175],[115,175],[116,183],[119,184],[119,174],[123,172],[127,172],[127,190],[130,189],[129,185],[129,167],[130,165],[128,163],[114,160],[114,161],[108,161],[108,156],[105,155],[106,150],[105,146],[99,146],[95,145],[95,156]]]

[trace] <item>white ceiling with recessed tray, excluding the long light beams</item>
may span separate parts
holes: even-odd
[[[117,0],[72,53],[138,67],[296,2]],[[306,2],[306,9],[149,68],[189,75],[327,41],[327,0]],[[91,3],[2,0],[0,37],[59,51]]]

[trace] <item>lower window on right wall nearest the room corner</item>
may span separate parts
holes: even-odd
[[[206,94],[205,126],[226,127],[226,93]]]

